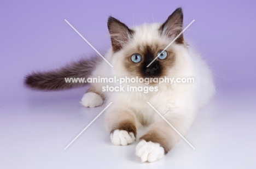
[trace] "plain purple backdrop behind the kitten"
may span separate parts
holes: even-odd
[[[85,89],[34,92],[23,85],[32,70],[51,70],[97,55],[67,25],[67,19],[98,51],[110,46],[109,15],[127,26],[164,22],[183,7],[185,39],[213,70],[219,92],[255,92],[255,1],[1,1],[0,74],[2,102],[77,99]]]

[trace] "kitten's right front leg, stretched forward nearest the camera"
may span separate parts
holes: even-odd
[[[184,135],[190,123],[182,118],[173,118],[168,120],[174,128]],[[164,119],[158,120],[149,126],[145,135],[139,138],[136,146],[136,155],[142,162],[154,162],[164,158],[164,156],[182,139],[173,128],[168,125]]]

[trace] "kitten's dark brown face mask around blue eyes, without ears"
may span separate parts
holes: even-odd
[[[152,27],[152,25],[145,25],[145,27]],[[152,34],[149,33],[149,35]],[[163,51],[169,44],[166,39],[156,36],[151,43],[151,40],[147,38],[144,39],[143,43],[139,41],[136,42],[136,39],[141,38],[139,34],[138,36],[135,35],[131,43],[127,44],[123,51],[120,52],[123,55],[120,62],[122,62],[127,73],[138,77],[166,76],[168,69],[172,67],[175,61],[175,53],[172,49],[173,46]],[[160,53],[161,55],[156,58]],[[154,59],[155,61],[152,62]]]

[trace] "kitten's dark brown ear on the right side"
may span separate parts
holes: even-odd
[[[179,33],[182,32],[183,26],[183,13],[182,8],[177,8],[174,12],[168,17],[168,19],[163,23],[159,31],[161,34],[166,35],[170,38],[176,38]],[[183,44],[183,34],[179,35],[179,37],[175,41],[177,44]]]

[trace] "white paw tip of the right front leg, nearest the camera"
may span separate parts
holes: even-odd
[[[141,140],[136,146],[136,155],[141,158],[142,162],[154,162],[165,156],[165,150],[159,143]]]

